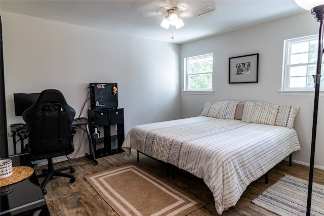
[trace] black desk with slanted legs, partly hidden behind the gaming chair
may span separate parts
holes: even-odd
[[[89,152],[90,154],[86,154],[86,156],[92,161],[94,162],[95,165],[98,164],[98,161],[96,160],[96,154],[95,154],[95,150],[94,150],[94,146],[92,143],[92,139],[91,139],[91,134],[89,131],[89,124],[92,124],[93,122],[88,120],[87,118],[75,118],[73,119],[72,122],[72,126],[78,126],[81,128],[82,125],[86,126],[86,133],[88,136],[88,141],[89,141]],[[14,142],[14,154],[17,154],[16,151],[16,136],[17,136],[17,132],[20,131],[20,129],[25,129],[26,131],[28,131],[28,127],[26,127],[26,124],[12,124],[10,125],[11,127],[11,132],[13,135],[13,142]],[[21,145],[21,153],[25,152],[25,147],[24,147],[24,140],[20,140],[20,145]]]

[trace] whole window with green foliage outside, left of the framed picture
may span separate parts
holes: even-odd
[[[213,90],[213,54],[185,58],[185,91]]]

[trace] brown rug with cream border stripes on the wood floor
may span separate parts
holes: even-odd
[[[186,215],[204,206],[136,165],[85,178],[119,215]]]

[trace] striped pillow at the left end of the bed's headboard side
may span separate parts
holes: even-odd
[[[206,100],[200,116],[234,119],[236,105],[239,101]]]

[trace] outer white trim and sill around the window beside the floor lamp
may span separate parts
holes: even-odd
[[[284,59],[282,62],[284,64],[282,65],[282,83],[281,83],[281,90],[278,91],[280,96],[314,96],[315,88],[287,88],[288,86],[288,80],[289,80],[289,73],[286,71],[288,70],[288,51],[290,49],[290,45],[293,44],[294,42],[302,42],[304,41],[309,41],[310,39],[317,39],[318,34],[316,35],[310,35],[310,36],[305,36],[305,37],[299,37],[295,39],[288,39],[285,40],[284,42]],[[316,64],[316,63],[315,63]],[[320,89],[320,94],[319,96],[324,95],[324,89]]]

